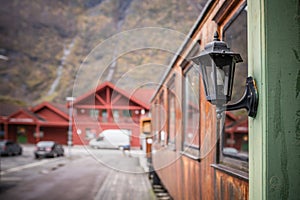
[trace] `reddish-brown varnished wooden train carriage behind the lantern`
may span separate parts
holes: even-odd
[[[228,167],[219,152],[215,107],[206,100],[199,69],[188,60],[215,31],[231,45],[242,44],[235,51],[247,55],[245,8],[245,1],[210,1],[153,98],[153,165],[175,199],[248,198],[248,163],[237,158]],[[245,61],[240,71],[246,77]]]

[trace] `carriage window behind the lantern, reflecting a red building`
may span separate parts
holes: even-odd
[[[237,64],[230,103],[239,100],[245,90],[248,74],[247,7],[242,9],[224,28],[224,41],[234,52],[239,52],[243,62]],[[228,112],[222,137],[224,157],[248,161],[248,117],[243,110]]]

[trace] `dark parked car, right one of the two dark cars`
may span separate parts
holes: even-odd
[[[62,145],[54,141],[41,141],[36,144],[34,151],[35,158],[40,157],[57,157],[64,155],[64,148]]]

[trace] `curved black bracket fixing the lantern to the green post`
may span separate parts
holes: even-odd
[[[246,79],[246,89],[243,97],[235,104],[221,106],[217,108],[217,112],[223,112],[225,110],[238,110],[246,109],[248,116],[255,118],[258,106],[258,92],[254,79],[250,76]]]

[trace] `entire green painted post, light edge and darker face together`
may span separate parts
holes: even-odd
[[[249,71],[260,94],[250,122],[250,198],[299,199],[300,1],[248,4]]]

